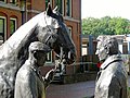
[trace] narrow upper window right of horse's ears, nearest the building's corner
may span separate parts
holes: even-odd
[[[72,0],[65,0],[65,15],[72,16]]]

